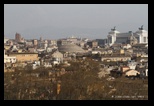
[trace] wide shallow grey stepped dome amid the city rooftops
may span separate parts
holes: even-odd
[[[58,45],[58,50],[60,52],[85,52],[81,47],[75,44]]]

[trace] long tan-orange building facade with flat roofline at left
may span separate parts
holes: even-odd
[[[38,53],[9,53],[9,56],[16,57],[17,62],[37,61]]]

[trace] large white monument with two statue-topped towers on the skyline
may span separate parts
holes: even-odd
[[[126,33],[120,33],[115,29],[111,29],[108,33],[108,44],[113,45],[114,43],[148,43],[148,32],[143,29],[143,25],[138,31],[132,33],[132,31]],[[134,37],[136,39],[134,39]],[[134,40],[134,41],[131,41]]]

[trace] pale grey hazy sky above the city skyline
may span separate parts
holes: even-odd
[[[119,32],[148,31],[148,4],[4,4],[4,35],[25,39],[70,36],[104,39]]]

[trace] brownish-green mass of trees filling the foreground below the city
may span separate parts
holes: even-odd
[[[91,58],[70,62],[67,73],[55,77],[52,82],[48,70],[40,67],[36,70],[4,74],[5,100],[114,100],[121,96],[148,95],[148,87],[140,79],[130,80],[125,77],[107,81],[98,78],[99,63]],[[59,70],[57,67],[53,70]],[[26,76],[40,73],[42,77]],[[61,90],[57,95],[57,83],[61,81]],[[148,79],[147,79],[148,81]],[[125,98],[127,99],[127,98]],[[142,98],[143,99],[143,98]],[[147,98],[146,98],[147,99]]]

